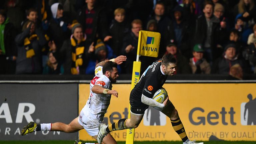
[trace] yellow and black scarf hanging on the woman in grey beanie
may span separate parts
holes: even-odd
[[[72,65],[71,74],[79,74],[78,68],[83,65],[83,53],[84,53],[84,41],[77,41],[75,38],[71,38],[72,47]]]

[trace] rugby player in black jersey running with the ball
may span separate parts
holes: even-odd
[[[98,143],[101,144],[103,137],[115,130],[136,128],[140,124],[145,110],[149,107],[155,107],[160,110],[171,120],[173,129],[177,132],[183,141],[183,144],[203,144],[190,141],[187,137],[183,124],[179,118],[178,111],[170,102],[167,96],[163,103],[158,103],[152,99],[155,92],[162,88],[167,76],[173,76],[175,73],[176,58],[172,54],[165,54],[162,60],[154,62],[142,74],[139,82],[135,85],[130,94],[131,118],[120,119],[111,125],[100,125],[97,137]]]

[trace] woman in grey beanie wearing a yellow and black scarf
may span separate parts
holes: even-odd
[[[72,27],[73,34],[63,42],[59,50],[64,74],[85,74],[88,61],[94,56],[94,42],[86,39],[79,23],[73,24]]]

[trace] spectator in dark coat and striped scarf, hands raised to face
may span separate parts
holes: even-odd
[[[42,46],[46,44],[45,36],[35,27],[33,21],[27,21],[22,33],[18,34],[15,42],[18,45],[16,74],[42,73]]]

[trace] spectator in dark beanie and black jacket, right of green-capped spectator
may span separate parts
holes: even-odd
[[[244,73],[251,73],[249,62],[237,55],[236,47],[237,46],[234,43],[230,43],[225,47],[224,56],[216,59],[211,73],[228,75],[230,72],[230,67],[235,64],[239,64]]]

